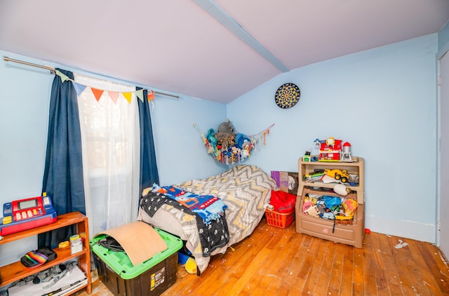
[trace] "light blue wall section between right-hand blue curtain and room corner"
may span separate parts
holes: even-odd
[[[181,100],[158,100],[152,111],[154,142],[160,182],[174,184],[192,178],[209,177],[227,167],[207,154],[199,131],[226,120],[226,105],[191,97]]]

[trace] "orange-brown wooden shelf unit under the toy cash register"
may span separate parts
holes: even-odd
[[[33,274],[36,274],[39,271],[43,271],[55,265],[66,262],[67,260],[71,260],[73,258],[78,257],[79,268],[82,271],[84,271],[84,274],[86,274],[87,283],[86,285],[82,285],[76,290],[73,290],[71,294],[83,288],[86,288],[86,292],[88,294],[91,294],[92,291],[91,250],[89,246],[88,218],[85,215],[79,212],[72,212],[60,215],[58,216],[58,220],[56,220],[56,222],[54,223],[43,225],[40,227],[35,227],[32,229],[27,229],[24,231],[17,232],[15,234],[8,234],[4,236],[3,239],[0,241],[0,245],[3,245],[5,243],[11,243],[11,241],[18,241],[22,238],[27,238],[29,236],[43,234],[44,232],[52,231],[62,227],[67,227],[70,225],[75,225],[76,233],[82,234],[83,236],[83,250],[81,252],[72,255],[70,247],[64,249],[55,248],[53,250],[58,254],[58,257],[55,260],[52,260],[51,262],[46,262],[46,264],[43,264],[40,267],[36,267],[34,269],[27,269],[22,265],[22,263],[20,263],[20,261],[5,265],[4,267],[0,267],[0,274],[1,274],[0,287],[3,287],[4,285],[9,285],[27,276],[32,276]]]

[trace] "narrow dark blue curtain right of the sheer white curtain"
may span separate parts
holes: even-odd
[[[137,90],[142,88],[136,87]],[[154,150],[152,118],[149,114],[148,91],[143,90],[143,102],[138,100],[140,121],[140,193],[142,189],[159,184],[159,173]],[[142,197],[142,196],[140,196]]]

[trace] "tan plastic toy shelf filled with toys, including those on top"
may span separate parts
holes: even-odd
[[[315,140],[320,154],[298,160],[296,231],[362,248],[364,234],[364,159],[350,144]],[[344,148],[343,148],[344,147]],[[328,206],[326,203],[335,203]]]

